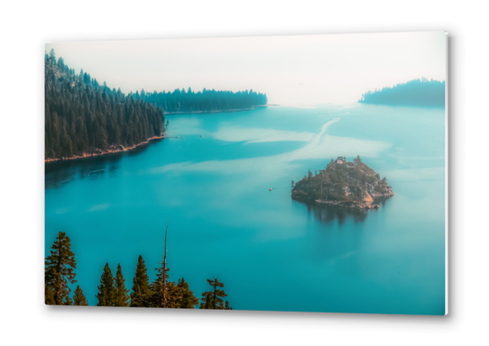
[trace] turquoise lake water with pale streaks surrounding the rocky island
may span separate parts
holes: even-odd
[[[108,262],[150,278],[170,223],[171,280],[225,284],[234,309],[445,314],[445,111],[273,106],[169,115],[164,139],[46,164],[45,252],[71,239],[77,284],[97,304]],[[396,193],[379,210],[305,205],[291,180],[360,155]],[[269,188],[272,187],[272,191]],[[74,287],[76,287],[76,285]]]

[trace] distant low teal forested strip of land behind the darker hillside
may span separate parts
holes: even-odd
[[[257,93],[253,90],[217,91],[204,88],[197,93],[189,87],[175,89],[173,92],[152,92],[144,90],[136,91],[133,95],[138,100],[143,100],[152,105],[157,105],[166,113],[191,113],[191,112],[219,112],[235,109],[247,109],[257,105],[266,105],[266,94]]]

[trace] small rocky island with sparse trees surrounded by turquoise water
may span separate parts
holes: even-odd
[[[387,178],[382,178],[368,167],[360,156],[349,162],[345,157],[331,159],[328,166],[294,183],[292,199],[306,203],[337,205],[353,209],[378,209],[375,203],[394,196]]]

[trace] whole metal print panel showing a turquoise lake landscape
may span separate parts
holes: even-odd
[[[446,42],[47,44],[45,303],[446,314]]]

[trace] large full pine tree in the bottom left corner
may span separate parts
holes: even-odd
[[[77,282],[75,280],[75,269],[77,269],[77,262],[75,254],[71,251],[69,237],[66,236],[65,232],[60,232],[51,246],[51,255],[46,257],[44,262],[46,302],[54,303],[54,305],[70,303],[69,293],[71,289],[68,283]]]

